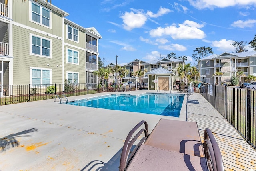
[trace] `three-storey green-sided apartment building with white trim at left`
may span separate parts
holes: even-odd
[[[69,14],[46,0],[0,0],[1,85],[96,83],[95,28],[66,19]],[[54,1],[52,1],[54,3]],[[2,95],[2,89],[1,89]]]

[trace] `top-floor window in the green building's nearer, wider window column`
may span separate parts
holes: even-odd
[[[42,26],[51,28],[52,11],[30,1],[29,20]]]

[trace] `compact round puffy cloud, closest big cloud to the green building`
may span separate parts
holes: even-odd
[[[134,28],[141,28],[147,21],[144,14],[134,14],[134,12],[125,12],[120,18],[123,19],[124,29],[129,31]]]

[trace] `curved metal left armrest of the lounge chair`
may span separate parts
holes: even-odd
[[[142,125],[145,124],[145,128],[142,128],[133,138],[132,135],[134,134],[134,132]],[[142,134],[145,133],[145,137],[142,138],[142,140],[140,140],[140,142],[138,143],[138,145],[136,146],[136,148],[132,151],[129,159],[129,153],[130,150],[132,148],[132,145],[134,144],[134,142],[138,139],[138,137]],[[129,164],[129,162],[131,161],[133,155],[135,154],[136,150],[140,147],[140,145],[146,140],[146,138],[148,138],[149,134],[148,134],[148,123],[144,120],[140,121],[140,123],[138,123],[134,128],[132,128],[132,130],[129,132],[128,136],[126,137],[126,140],[124,142],[124,147],[122,149],[122,153],[121,153],[121,159],[120,159],[120,166],[119,166],[119,171],[124,171],[127,167],[127,165]],[[131,140],[132,138],[132,140]]]

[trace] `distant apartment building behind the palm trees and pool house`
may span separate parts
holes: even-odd
[[[122,82],[136,82],[136,78],[132,75],[132,73],[141,70],[144,71],[153,71],[158,68],[162,68],[163,70],[159,70],[159,72],[152,72],[150,75],[145,74],[142,76],[142,82],[148,83],[148,89],[149,90],[155,90],[156,86],[155,83],[152,82],[155,79],[158,79],[158,77],[164,77],[166,80],[163,80],[163,82],[168,82],[172,87],[176,83],[176,81],[181,81],[180,77],[178,76],[177,67],[179,64],[184,64],[184,61],[178,60],[178,59],[167,59],[162,58],[160,60],[153,60],[153,61],[143,61],[140,59],[135,59],[133,61],[130,61],[128,63],[120,63],[121,67],[125,67],[129,72],[125,75],[125,77],[122,78]],[[116,64],[110,63],[107,66],[115,67]],[[168,81],[167,81],[168,80]],[[171,80],[171,81],[169,81]],[[116,82],[116,73],[113,73],[110,75],[110,82]],[[137,79],[138,82],[138,79]],[[154,85],[154,86],[151,86]],[[169,89],[168,89],[169,90]]]

